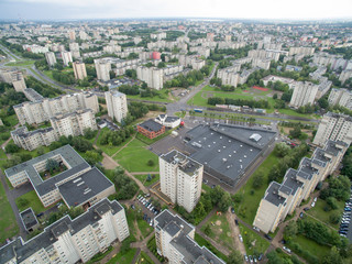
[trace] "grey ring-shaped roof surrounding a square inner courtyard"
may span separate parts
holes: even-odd
[[[38,162],[52,158],[56,155],[61,155],[72,168],[56,175],[55,177],[43,180],[40,174],[34,168],[34,165]],[[8,178],[11,178],[11,176],[24,170],[37,193],[40,195],[44,195],[47,191],[55,189],[56,183],[88,167],[90,167],[89,164],[70,145],[65,145],[42,156],[34,157],[28,162],[8,168],[4,170],[4,173]]]

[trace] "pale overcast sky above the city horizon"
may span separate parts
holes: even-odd
[[[351,19],[352,0],[0,0],[0,19]]]

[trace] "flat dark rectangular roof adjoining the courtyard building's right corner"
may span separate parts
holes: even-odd
[[[58,190],[69,207],[80,206],[92,197],[113,186],[98,169],[92,168],[82,175],[58,186]]]

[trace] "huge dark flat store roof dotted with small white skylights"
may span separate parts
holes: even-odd
[[[260,134],[258,141],[251,135]],[[190,157],[226,177],[235,180],[274,139],[275,132],[239,125],[198,125],[186,134]]]

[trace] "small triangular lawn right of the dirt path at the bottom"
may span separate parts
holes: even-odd
[[[240,223],[240,231],[243,238],[243,244],[248,255],[258,255],[264,253],[270,246],[270,242],[263,239],[260,234]]]

